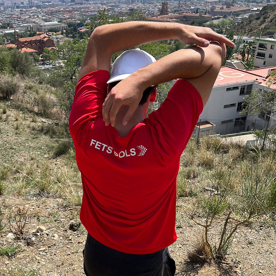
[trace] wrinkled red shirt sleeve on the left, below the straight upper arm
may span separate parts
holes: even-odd
[[[109,72],[105,70],[97,70],[82,76],[76,85],[69,128],[102,116],[102,105],[107,94],[106,82],[109,77]]]

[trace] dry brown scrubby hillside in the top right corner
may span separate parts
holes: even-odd
[[[262,36],[272,35],[276,30],[276,5],[265,6],[259,13],[250,14],[231,28],[235,35]]]

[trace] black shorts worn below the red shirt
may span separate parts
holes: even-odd
[[[175,262],[168,247],[151,254],[128,254],[103,245],[87,234],[82,251],[87,276],[173,276]]]

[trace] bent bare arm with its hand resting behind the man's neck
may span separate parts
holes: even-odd
[[[144,89],[172,79],[186,79],[190,82],[201,95],[205,105],[224,54],[221,44],[211,42],[207,48],[193,46],[182,49],[137,70],[113,87],[106,97],[103,104],[105,125],[110,122],[114,126],[120,107],[127,105],[129,108],[123,119],[123,125],[126,125],[136,110]]]

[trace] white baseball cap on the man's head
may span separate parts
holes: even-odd
[[[125,79],[133,72],[155,61],[156,59],[153,56],[139,48],[125,51],[115,59],[112,65],[111,77],[106,83]]]

